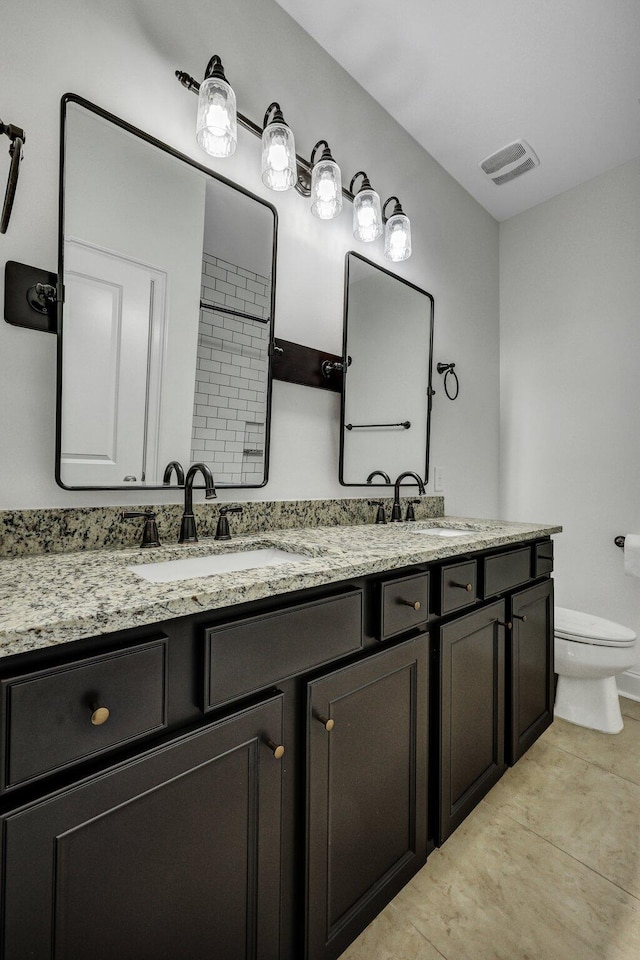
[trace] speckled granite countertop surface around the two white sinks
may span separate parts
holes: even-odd
[[[454,527],[462,536],[417,534]],[[558,526],[439,517],[386,525],[308,527],[166,545],[0,560],[0,657],[112,633],[305,587],[559,533]],[[143,563],[279,548],[304,559],[279,566],[150,583]]]

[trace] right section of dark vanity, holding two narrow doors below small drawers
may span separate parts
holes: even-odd
[[[553,544],[542,540],[447,562],[435,577],[442,617],[431,641],[435,845],[553,722],[552,569]]]

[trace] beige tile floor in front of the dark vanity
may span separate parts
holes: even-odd
[[[341,960],[639,960],[640,703],[556,720]]]

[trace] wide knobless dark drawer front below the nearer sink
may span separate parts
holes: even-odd
[[[205,630],[204,710],[362,649],[362,591]]]

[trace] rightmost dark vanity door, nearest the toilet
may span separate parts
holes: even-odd
[[[507,641],[507,761],[514,764],[553,722],[553,581],[511,598]]]

